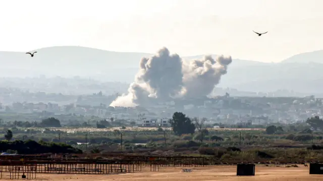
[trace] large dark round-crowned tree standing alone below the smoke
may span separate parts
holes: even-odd
[[[192,123],[191,119],[182,112],[175,112],[170,123],[176,135],[193,134],[195,132],[195,125]]]

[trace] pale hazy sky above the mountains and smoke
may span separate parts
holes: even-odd
[[[279,62],[323,49],[322,0],[1,1],[0,50],[80,45]],[[258,37],[252,32],[268,31]]]

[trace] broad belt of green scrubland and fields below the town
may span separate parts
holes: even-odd
[[[0,129],[3,140],[14,140],[0,142],[0,148],[20,154],[83,151],[100,156],[111,152],[210,156],[219,163],[323,161],[323,148],[318,146],[323,140],[323,120],[311,117],[306,122],[273,124],[262,129],[213,129],[213,125],[205,124],[205,119],[189,118],[181,112],[174,113],[171,128],[115,127],[116,120],[96,120],[94,128],[64,128],[56,121],[56,128],[17,125]]]

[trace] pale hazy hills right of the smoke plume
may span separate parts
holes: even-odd
[[[323,50],[297,54],[280,63],[234,59],[228,74],[222,77],[218,86],[253,92],[286,89],[303,93],[320,93],[323,89],[321,70],[323,70]]]

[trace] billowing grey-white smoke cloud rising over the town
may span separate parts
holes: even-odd
[[[141,59],[128,94],[119,96],[110,106],[133,107],[156,100],[206,96],[219,84],[231,62],[231,56],[223,55],[216,60],[209,55],[182,61],[178,54],[170,54],[166,47],[161,48],[156,55]]]

